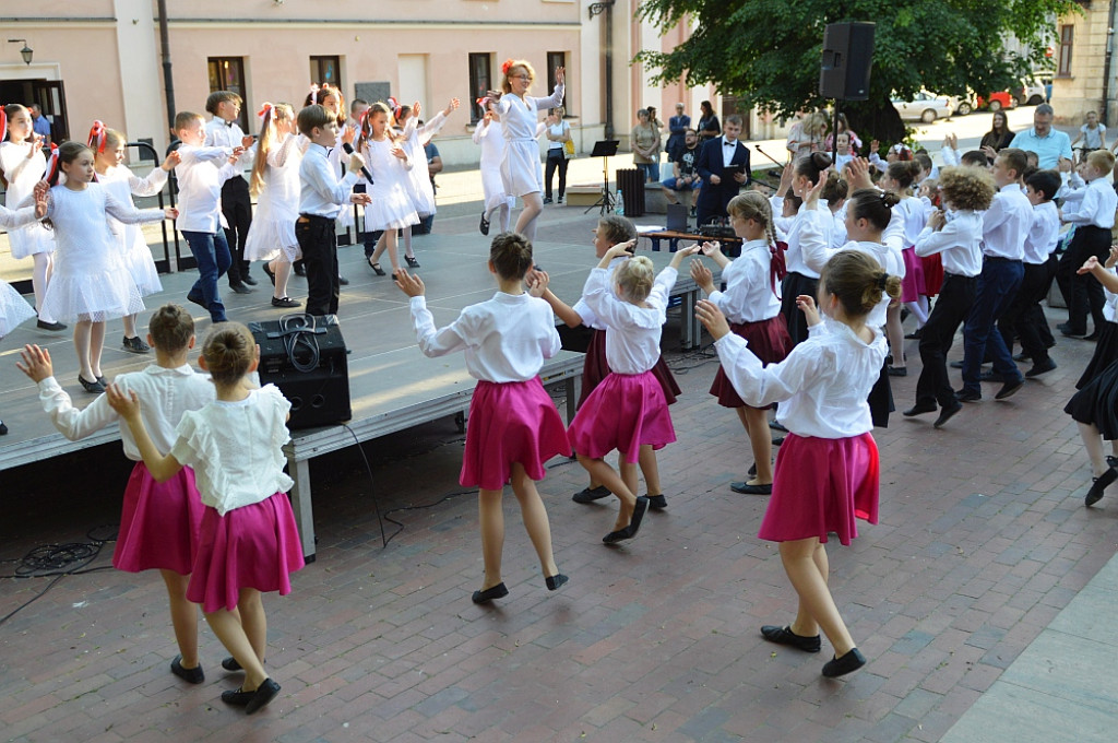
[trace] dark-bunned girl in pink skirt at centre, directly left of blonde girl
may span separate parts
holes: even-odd
[[[567,582],[551,553],[548,511],[536,480],[556,454],[570,455],[562,418],[540,382],[543,360],[559,352],[559,331],[551,308],[540,299],[547,274],[533,278],[524,293],[524,274],[532,267],[532,244],[523,235],[501,233],[490,247],[489,270],[499,291],[487,302],[472,304],[445,328],[435,328],[424,283],[407,271],[396,285],[411,298],[411,320],[425,356],[465,351],[466,369],[477,379],[470,402],[466,450],[458,482],[479,489],[482,557],[485,580],[474,603],[509,595],[501,577],[504,515],[501,496],[511,480],[528,537],[543,570],[548,591]]]

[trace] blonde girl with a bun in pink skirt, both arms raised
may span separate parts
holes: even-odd
[[[639,450],[663,449],[675,441],[664,389],[653,368],[660,359],[667,292],[683,258],[699,251],[698,245],[680,248],[671,265],[654,276],[652,261],[628,257],[635,245],[632,239],[606,251],[582,288],[582,301],[606,327],[610,372],[582,403],[568,432],[590,478],[622,501],[614,530],[601,538],[606,544],[635,537],[648,508],[648,498],[636,496]],[[624,260],[610,271],[616,258]],[[619,476],[604,459],[615,449]]]

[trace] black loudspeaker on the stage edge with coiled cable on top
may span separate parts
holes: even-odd
[[[274,384],[291,401],[287,427],[310,429],[349,421],[349,364],[338,317],[287,314],[250,322],[260,346],[260,384]]]

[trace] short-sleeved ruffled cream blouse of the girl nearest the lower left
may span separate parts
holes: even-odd
[[[235,508],[291,490],[281,449],[291,441],[291,403],[275,385],[253,389],[245,399],[216,399],[187,411],[176,430],[171,455],[193,468],[202,502],[225,516]]]

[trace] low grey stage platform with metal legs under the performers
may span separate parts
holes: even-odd
[[[416,273],[426,283],[427,304],[436,325],[451,322],[462,308],[493,295],[495,283],[485,266],[489,244],[489,238],[482,235],[428,235],[416,241],[416,255],[423,264]],[[671,260],[667,253],[644,254],[652,257],[657,269]],[[339,318],[350,350],[353,418],[345,426],[295,431],[285,450],[288,470],[295,480],[292,505],[300,523],[303,549],[311,558],[314,555],[314,521],[309,461],[359,441],[465,413],[474,388],[474,379],[466,373],[459,355],[428,359],[419,352],[407,297],[389,276],[372,275],[361,246],[341,248],[339,258],[342,275],[350,280],[350,285],[342,288]],[[552,291],[569,303],[578,299],[589,270],[596,265],[593,247],[586,243],[542,243],[536,246],[536,260],[550,275]],[[387,266],[387,260],[383,263]],[[711,267],[718,276],[717,267]],[[278,319],[286,311],[271,305],[272,288],[258,264],[254,264],[253,275],[259,284],[252,294],[228,292],[222,281],[222,299],[229,318],[246,323]],[[193,271],[164,274],[164,291],[146,299],[148,311],[141,314],[141,326],[146,325],[151,310],[176,301],[193,313],[201,340],[209,328],[209,319],[200,308],[186,301],[187,290],[196,278]],[[293,276],[290,292],[295,299],[305,299],[305,280]],[[669,321],[674,317],[682,322],[681,340],[688,348],[699,339],[700,328],[694,318],[698,295],[694,282],[682,273],[673,291],[680,303],[670,311]],[[150,355],[125,352],[121,349],[121,338],[120,321],[111,322],[103,361],[105,376],[110,379],[142,369],[154,359]],[[8,435],[0,436],[0,471],[55,458],[65,467],[67,454],[72,452],[119,441],[116,426],[76,442],[67,441],[55,431],[41,411],[36,386],[16,369],[19,349],[25,344],[38,344],[50,350],[56,377],[75,405],[80,407],[93,399],[77,383],[77,359],[69,330],[50,333],[27,322],[12,331],[0,341],[0,418],[10,427]],[[541,373],[544,384],[563,385],[568,420],[574,414],[576,382],[581,376],[581,354],[565,350],[549,360]]]

